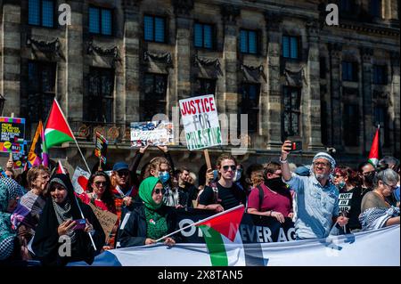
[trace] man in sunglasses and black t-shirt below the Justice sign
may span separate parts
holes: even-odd
[[[246,204],[246,193],[233,183],[237,161],[230,154],[217,158],[217,183],[209,183],[199,197],[197,208],[222,212],[226,209]]]

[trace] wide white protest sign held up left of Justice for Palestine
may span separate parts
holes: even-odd
[[[174,144],[173,123],[163,120],[131,123],[131,147],[172,144]]]

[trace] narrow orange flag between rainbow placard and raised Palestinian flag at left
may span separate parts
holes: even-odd
[[[29,166],[48,166],[49,158],[45,147],[45,132],[43,129],[42,120],[39,120],[37,131],[30,145],[28,154]]]

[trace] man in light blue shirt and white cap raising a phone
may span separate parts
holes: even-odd
[[[333,223],[336,226],[344,226],[348,223],[347,217],[339,216],[339,193],[329,180],[336,162],[329,154],[319,152],[312,160],[309,176],[291,174],[288,166],[291,149],[291,141],[287,140],[282,144],[280,162],[282,181],[290,185],[298,196],[296,237],[297,239],[326,238],[330,234]]]

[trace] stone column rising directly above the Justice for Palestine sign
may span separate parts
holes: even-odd
[[[193,0],[175,0],[173,4],[176,14],[176,56],[174,64],[176,93],[170,93],[168,113],[171,111],[171,107],[178,105],[179,100],[191,96],[191,11]]]

